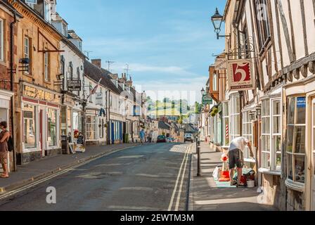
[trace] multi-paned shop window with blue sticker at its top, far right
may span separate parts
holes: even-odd
[[[288,99],[288,179],[304,184],[306,141],[306,98]]]

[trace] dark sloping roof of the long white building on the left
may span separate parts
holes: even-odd
[[[107,70],[103,70],[98,68],[96,65],[93,65],[88,60],[84,60],[84,75],[93,79],[95,82],[99,82],[101,80],[101,85],[113,91],[115,94],[120,95],[121,91],[118,89],[115,84],[109,78],[110,72]]]

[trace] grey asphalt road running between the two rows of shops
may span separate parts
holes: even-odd
[[[189,144],[138,146],[99,158],[0,200],[0,210],[187,210]],[[48,187],[56,204],[48,204]]]

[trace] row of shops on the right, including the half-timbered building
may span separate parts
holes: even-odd
[[[264,20],[255,18],[259,6],[269,12]],[[264,204],[280,210],[315,210],[315,44],[304,38],[315,34],[304,23],[314,20],[314,6],[229,0],[224,15],[212,16],[214,26],[226,23],[226,52],[210,66],[214,104],[204,110],[203,133],[220,150],[249,139],[255,157],[246,149],[245,166],[257,172]],[[291,8],[301,26],[288,20]]]

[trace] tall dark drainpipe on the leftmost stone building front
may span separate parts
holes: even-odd
[[[16,11],[12,11],[14,20],[10,24],[10,78],[11,78],[11,91],[14,91],[13,85],[14,85],[14,73],[13,73],[13,66],[14,66],[14,25],[17,22],[16,20]],[[16,140],[15,140],[15,108],[14,108],[14,95],[11,99],[11,136],[13,139],[14,143],[14,148],[13,148],[13,172],[17,171],[16,167]]]

